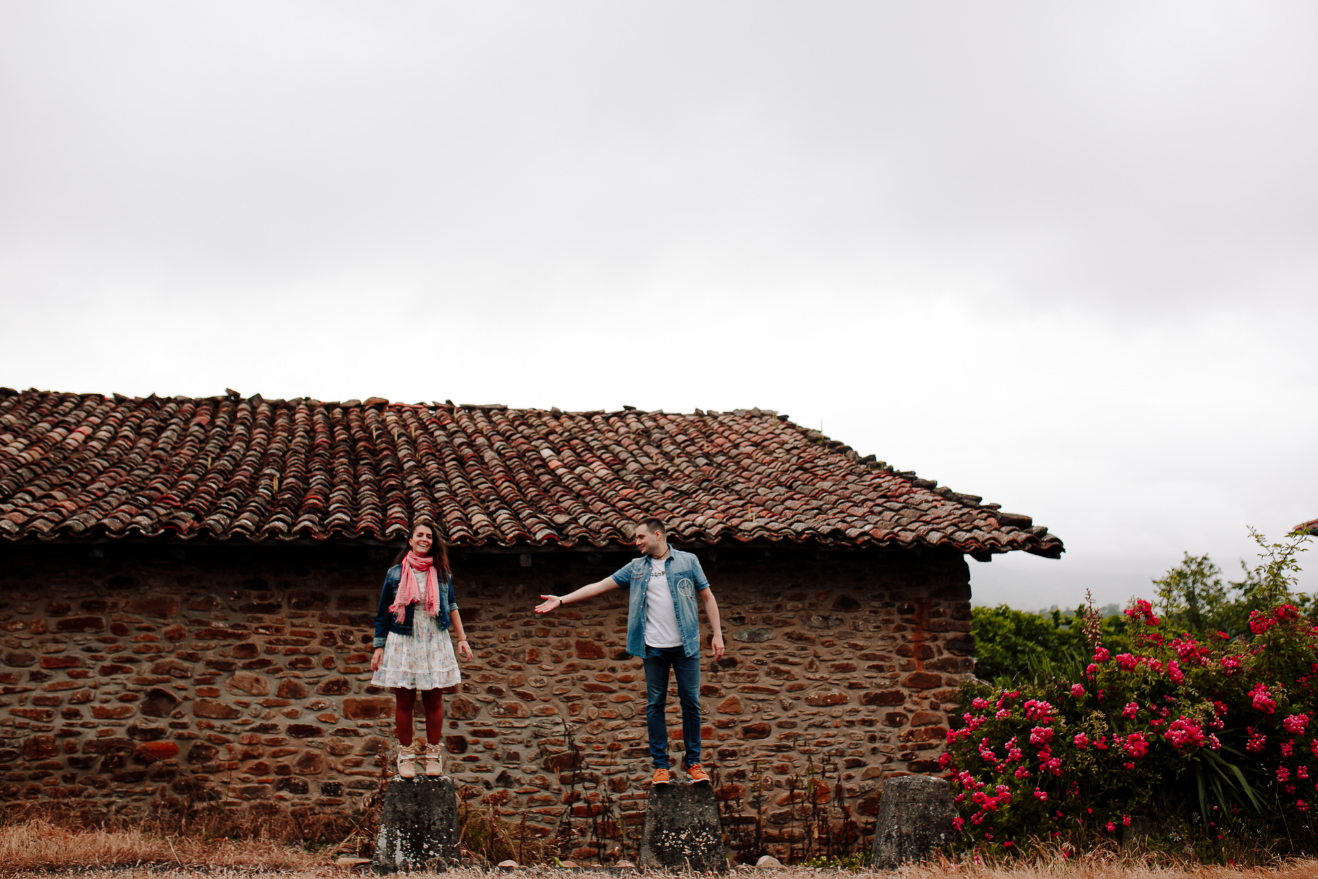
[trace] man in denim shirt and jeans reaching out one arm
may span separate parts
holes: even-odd
[[[575,601],[626,589],[630,593],[627,652],[639,656],[646,667],[646,729],[655,766],[654,784],[672,780],[668,774],[668,725],[663,716],[668,702],[668,669],[677,679],[677,701],[681,704],[681,738],[687,746],[683,767],[692,781],[709,781],[709,774],[700,766],[700,619],[696,594],[700,594],[714,633],[710,640],[714,659],[724,655],[718,602],[700,560],[689,552],[668,548],[663,522],[642,519],[633,543],[645,555],[600,582],[565,596],[540,596],[544,602],[535,606],[535,613],[547,614]]]

